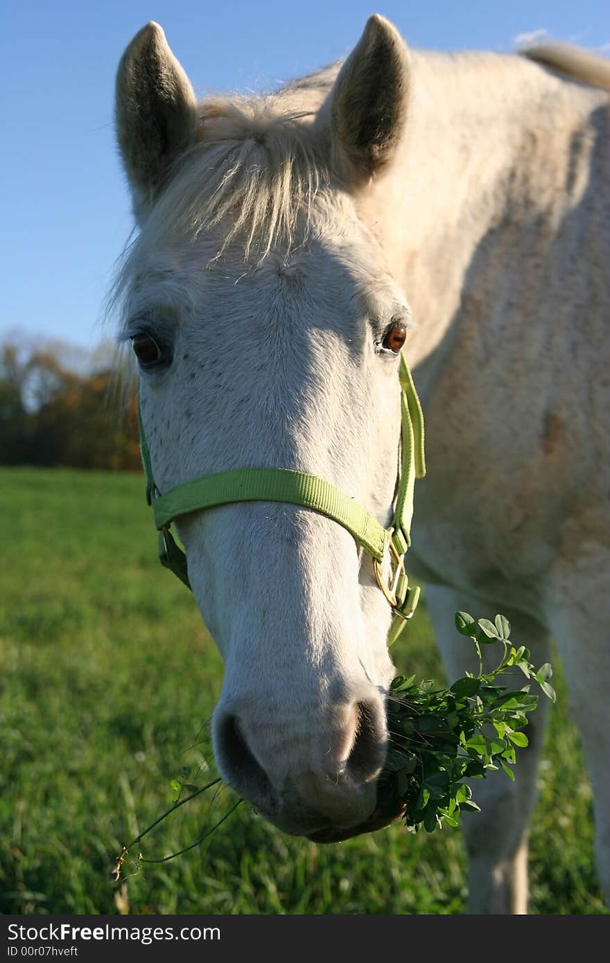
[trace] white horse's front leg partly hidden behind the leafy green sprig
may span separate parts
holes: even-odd
[[[470,612],[491,617],[497,612],[511,623],[511,638],[525,645],[537,666],[548,659],[549,637],[532,618],[498,604],[497,608],[464,596],[451,588],[427,586],[426,599],[438,645],[443,655],[450,682],[476,670],[471,644],[455,629],[455,612]],[[493,610],[493,611],[492,611]],[[492,654],[484,646],[484,660],[497,664],[495,647]],[[514,677],[515,688],[525,684],[525,677]],[[503,683],[507,685],[508,683]],[[527,725],[529,745],[517,751],[516,779],[505,773],[491,772],[487,779],[476,779],[472,790],[482,812],[464,816],[464,837],[468,851],[468,911],[470,913],[527,912],[527,834],[529,819],[536,801],[536,774],[544,739],[548,699],[541,698]]]

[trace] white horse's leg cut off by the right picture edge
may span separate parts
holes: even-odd
[[[610,903],[610,555],[556,566],[547,620],[566,672],[594,796],[599,885]]]

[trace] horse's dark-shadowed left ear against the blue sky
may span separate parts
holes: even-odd
[[[136,202],[149,203],[172,161],[195,143],[197,98],[158,23],[150,21],[117,71],[119,148]]]

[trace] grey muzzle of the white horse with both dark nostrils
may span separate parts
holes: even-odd
[[[379,820],[377,779],[387,747],[385,708],[375,687],[327,715],[289,723],[255,721],[236,704],[214,718],[225,782],[285,833],[347,838]],[[331,841],[331,840],[329,840]]]

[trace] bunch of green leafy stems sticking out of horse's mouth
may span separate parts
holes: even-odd
[[[504,615],[496,615],[493,622],[475,621],[467,612],[457,612],[456,628],[474,645],[478,673],[466,673],[449,689],[416,683],[414,676],[397,676],[388,696],[391,742],[378,805],[396,812],[404,804],[411,832],[421,825],[433,832],[443,822],[457,826],[462,812],[479,810],[465,780],[485,778],[498,768],[514,779],[516,749],[528,744],[520,730],[538,703],[530,684],[536,682],[555,701],[548,681],[553,674],[550,664],[535,669],[529,650],[523,645],[516,648],[509,640],[511,626]],[[494,669],[484,672],[482,646],[491,644],[501,644],[503,655]],[[498,685],[516,672],[528,680],[521,689]]]

